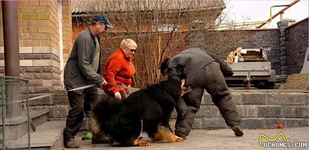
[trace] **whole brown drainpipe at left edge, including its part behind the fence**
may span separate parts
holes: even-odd
[[[3,18],[3,37],[4,37],[4,69],[6,76],[20,77],[19,63],[19,37],[18,37],[18,18],[17,1],[2,0],[2,18]],[[7,118],[21,116],[21,82],[6,82],[5,86],[7,103]]]

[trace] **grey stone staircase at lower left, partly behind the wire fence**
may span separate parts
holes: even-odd
[[[33,97],[33,96],[32,96]],[[49,97],[32,100],[32,103],[47,101]],[[22,113],[26,113],[22,112]],[[32,122],[30,127],[30,148],[31,150],[61,150],[63,148],[63,129],[65,121],[48,121],[50,109],[33,109],[29,111],[29,116]],[[26,115],[22,115],[26,116]],[[6,120],[8,126],[5,130],[5,145],[7,150],[17,150],[28,148],[25,143],[28,138],[27,132],[27,117],[14,117]],[[2,125],[2,123],[0,123]],[[32,129],[34,128],[34,130]],[[16,140],[18,139],[18,140]],[[1,145],[2,148],[2,145]]]

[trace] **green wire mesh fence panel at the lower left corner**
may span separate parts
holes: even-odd
[[[0,149],[30,149],[28,81],[0,76]]]

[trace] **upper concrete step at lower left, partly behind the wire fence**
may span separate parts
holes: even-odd
[[[29,112],[32,124],[37,127],[47,122],[48,110],[33,110]],[[27,112],[22,111],[21,117],[5,119],[5,140],[19,139],[27,133],[28,119]],[[2,121],[0,121],[2,127]],[[31,130],[31,128],[30,128]]]

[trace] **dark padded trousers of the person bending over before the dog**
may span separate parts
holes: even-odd
[[[204,89],[211,95],[213,103],[219,108],[227,125],[232,127],[240,124],[240,116],[231,100],[231,93],[228,91],[225,78],[217,62],[206,65],[195,75],[188,78],[185,86],[190,86],[192,91],[184,95],[177,103],[176,135],[181,136],[181,134],[188,135],[190,133],[195,114],[200,109]]]

